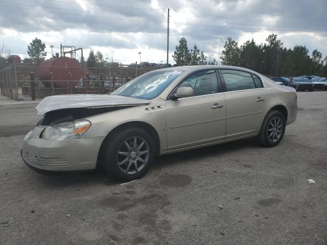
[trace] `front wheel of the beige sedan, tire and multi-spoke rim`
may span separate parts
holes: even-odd
[[[130,181],[141,178],[149,170],[155,157],[155,143],[144,129],[123,128],[106,139],[102,151],[102,166],[108,175],[114,179]]]

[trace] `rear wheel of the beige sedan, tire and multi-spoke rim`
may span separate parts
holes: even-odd
[[[279,122],[278,119],[280,120],[280,122],[282,122],[282,124],[279,123],[277,124],[277,122]],[[274,129],[272,125],[277,125],[277,126]],[[282,132],[280,133],[278,132],[278,127],[282,128]],[[256,139],[258,140],[259,144],[265,147],[276,146],[283,139],[285,133],[285,127],[286,127],[286,120],[283,113],[280,111],[271,110],[265,116],[259,135],[256,136]],[[271,133],[275,134],[275,136],[270,136]]]

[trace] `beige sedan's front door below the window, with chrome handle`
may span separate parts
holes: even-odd
[[[166,113],[168,150],[225,139],[224,93],[167,101]]]

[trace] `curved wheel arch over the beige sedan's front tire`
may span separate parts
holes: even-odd
[[[107,134],[107,136],[104,138],[104,140],[101,143],[99,153],[98,153],[97,167],[99,166],[99,162],[102,160],[102,153],[103,153],[104,145],[106,144],[106,141],[110,139],[110,136],[120,129],[131,128],[131,127],[141,128],[141,129],[144,129],[147,132],[149,132],[155,143],[155,151],[156,151],[155,155],[156,156],[159,155],[159,153],[160,153],[160,138],[159,138],[158,132],[155,130],[155,128],[152,125],[150,125],[144,121],[128,121],[128,122],[124,122],[123,124],[120,124],[120,125],[116,126],[115,128],[113,128]]]

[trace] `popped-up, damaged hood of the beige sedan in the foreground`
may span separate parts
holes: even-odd
[[[101,108],[139,106],[150,104],[150,100],[109,94],[66,94],[45,97],[36,107],[37,115],[68,108]]]

